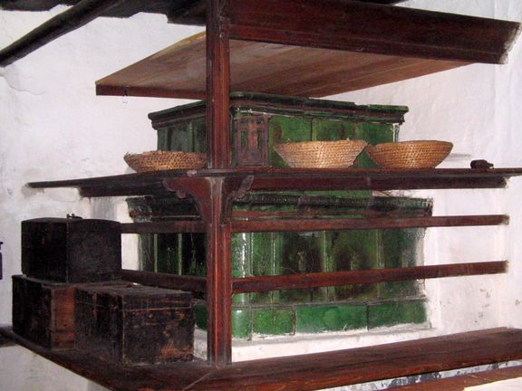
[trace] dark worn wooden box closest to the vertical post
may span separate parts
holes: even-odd
[[[113,364],[163,364],[193,357],[189,292],[134,285],[76,291],[76,348]]]

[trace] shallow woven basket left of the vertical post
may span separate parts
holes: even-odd
[[[204,167],[206,155],[196,152],[150,151],[125,154],[123,159],[136,172],[168,169],[196,169]]]

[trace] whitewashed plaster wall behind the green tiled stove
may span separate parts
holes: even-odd
[[[405,6],[522,20],[522,3],[512,0],[411,0]],[[60,11],[63,8],[39,14],[0,11],[0,47]],[[0,241],[5,242],[0,324],[11,322],[10,276],[20,273],[22,220],[67,213],[119,219],[125,215],[121,199],[82,200],[71,189],[36,191],[24,184],[125,173],[128,168],[121,158],[125,152],[154,148],[156,135],[147,113],[181,101],[96,97],[94,81],[195,32],[186,26],[169,25],[158,15],[100,19],[14,65],[0,68]],[[520,91],[522,40],[504,66],[471,65],[333,98],[409,106],[411,112],[401,129],[401,139],[452,141],[456,155],[446,167],[467,167],[473,158],[486,158],[496,167],[522,167]],[[522,327],[522,211],[518,205],[522,179],[512,179],[507,190],[414,194],[433,196],[435,215],[511,215],[507,228],[430,229],[426,263],[508,259],[509,272],[427,281],[431,329],[349,338],[322,336],[285,343],[270,340],[236,349],[235,358],[344,348],[469,329]],[[126,265],[132,266],[134,243],[127,239],[124,248]],[[23,348],[0,348],[0,364],[0,389],[97,389]]]

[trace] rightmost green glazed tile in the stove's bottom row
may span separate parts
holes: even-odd
[[[425,321],[426,309],[423,300],[393,301],[368,306],[370,328]]]

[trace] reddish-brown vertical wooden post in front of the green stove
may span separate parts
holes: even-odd
[[[209,168],[230,165],[230,63],[227,0],[207,0],[207,157]],[[230,225],[221,224],[223,178],[211,181],[211,217],[207,222],[208,363],[232,360],[232,281]]]

